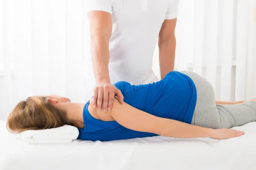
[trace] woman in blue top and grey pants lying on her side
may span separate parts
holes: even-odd
[[[244,132],[229,128],[256,121],[256,99],[215,102],[210,83],[192,72],[172,71],[156,83],[115,84],[124,104],[114,99],[104,112],[65,97],[32,96],[17,104],[7,128],[13,133],[63,125],[79,128],[78,139],[111,141],[148,136],[229,139]],[[228,89],[227,89],[228,90]]]

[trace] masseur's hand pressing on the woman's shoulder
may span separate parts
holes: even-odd
[[[90,104],[100,111],[102,109],[105,112],[111,111],[115,96],[118,97],[120,103],[123,103],[124,96],[119,89],[109,81],[97,82],[93,89],[93,98],[90,100]]]

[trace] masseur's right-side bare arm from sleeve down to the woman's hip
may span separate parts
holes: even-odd
[[[177,18],[173,20],[165,20],[159,33],[158,47],[161,79],[163,79],[170,71],[174,70],[176,23]]]

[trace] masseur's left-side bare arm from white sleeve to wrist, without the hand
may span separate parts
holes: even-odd
[[[105,11],[88,12],[90,21],[91,55],[96,83],[110,82],[108,72],[109,40],[112,34],[111,14]]]

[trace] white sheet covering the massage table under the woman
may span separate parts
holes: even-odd
[[[255,170],[256,122],[234,129],[246,135],[228,140],[157,136],[26,144],[0,122],[0,170]]]

